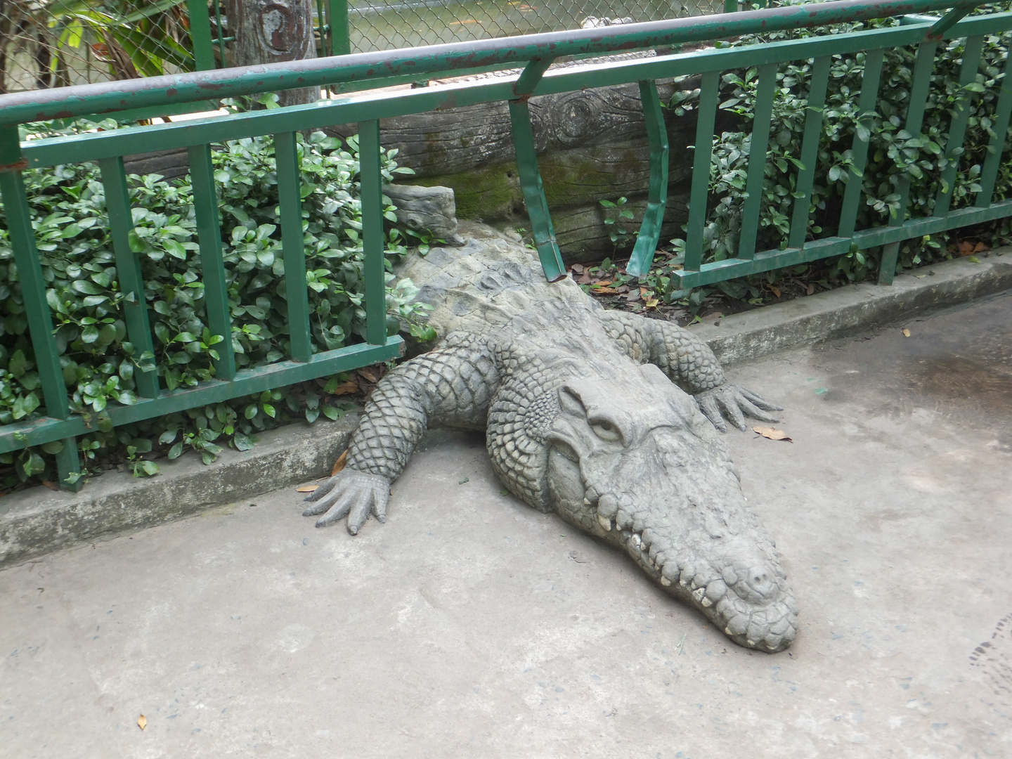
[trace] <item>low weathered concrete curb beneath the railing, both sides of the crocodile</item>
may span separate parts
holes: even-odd
[[[1012,256],[1006,263],[992,253],[981,263],[949,261],[899,276],[892,287],[843,287],[725,317],[720,325],[702,324],[692,331],[725,364],[733,364],[1010,287]],[[107,472],[76,494],[46,488],[14,493],[0,499],[0,567],[324,477],[357,424],[357,414],[312,427],[292,424],[264,433],[253,450],[227,449],[210,467],[188,454],[160,460],[159,477],[142,480]],[[294,493],[291,500],[298,508]]]

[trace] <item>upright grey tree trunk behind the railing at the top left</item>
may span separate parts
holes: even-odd
[[[312,0],[230,0],[229,30],[236,66],[316,58]],[[318,87],[278,92],[280,105],[315,103]]]

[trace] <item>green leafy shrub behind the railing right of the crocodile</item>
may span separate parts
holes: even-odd
[[[829,29],[798,29],[749,35],[736,40],[734,45],[822,36],[896,23],[895,19],[884,19],[864,24],[839,24]],[[852,165],[850,147],[855,134],[870,138],[862,179],[865,202],[858,208],[856,229],[889,223],[891,215],[895,215],[899,207],[898,182],[904,176],[911,182],[907,205],[909,216],[931,216],[935,196],[941,186],[942,172],[950,160],[958,163],[951,207],[958,208],[973,203],[975,193],[980,189],[977,182],[988,154],[988,143],[994,134],[992,118],[1003,81],[1001,74],[1008,45],[1007,33],[985,36],[976,81],[965,88],[960,88],[958,84],[962,40],[953,39],[939,46],[922,132],[918,137],[904,130],[913,80],[915,48],[891,48],[886,51],[878,101],[873,113],[860,113],[858,109],[865,54],[834,56],[819,143],[808,239],[819,239],[836,233],[850,174],[848,169]],[[790,216],[794,198],[798,194],[795,182],[800,166],[805,110],[808,106],[812,70],[811,61],[780,64],[777,69],[757,250],[786,247]],[[713,141],[709,181],[711,202],[704,231],[704,260],[734,257],[737,251],[746,196],[745,180],[757,84],[758,71],[755,68],[729,72],[723,77],[723,102],[720,107],[735,113],[742,129],[738,132],[725,132]],[[694,107],[697,98],[698,90],[686,90],[677,93],[670,105],[684,112]],[[946,156],[950,121],[956,109],[962,107],[971,110],[964,148],[957,149],[952,156]],[[1006,135],[1004,150],[1007,152],[1010,149],[1012,135]],[[996,183],[995,198],[1005,198],[1010,190],[1012,166],[1003,163]],[[1007,224],[1005,227],[1004,231],[1007,233]],[[935,235],[906,241],[900,247],[897,270],[946,257],[944,240],[945,235]],[[683,240],[672,242],[676,247],[684,246]],[[878,259],[879,250],[871,249],[852,251],[825,263],[830,267],[830,280],[854,281],[864,279],[876,271]],[[808,267],[792,267],[781,272],[769,272],[761,277],[722,282],[718,286],[728,294],[741,298],[756,289],[752,286],[753,281],[774,281],[784,274],[800,273],[796,270],[798,268],[805,270]],[[683,293],[674,294],[680,297]]]

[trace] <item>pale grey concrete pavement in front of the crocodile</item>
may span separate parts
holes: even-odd
[[[289,489],[0,572],[0,756],[1012,756],[1012,294],[731,375],[793,438],[727,438],[789,652],[439,432],[357,537]]]

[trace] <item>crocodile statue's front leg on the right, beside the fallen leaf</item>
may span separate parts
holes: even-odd
[[[627,356],[640,363],[656,364],[673,383],[692,394],[702,413],[722,432],[728,429],[724,417],[742,430],[746,416],[776,421],[766,412],[780,411],[781,407],[730,385],[713,351],[688,330],[621,311],[605,311],[601,323]]]

